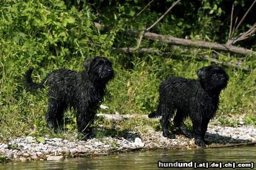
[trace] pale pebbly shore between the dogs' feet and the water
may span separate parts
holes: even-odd
[[[13,138],[9,139],[9,142],[0,143],[0,158],[5,162],[12,160],[63,160],[76,156],[108,155],[141,149],[196,147],[193,138],[177,135],[176,139],[167,139],[163,137],[162,131],[148,129],[147,133],[142,133],[140,128],[138,126],[137,133],[129,131],[127,138],[107,136],[87,141],[68,141],[60,138],[38,139],[30,136]],[[210,124],[205,139],[209,142],[208,147],[256,142],[256,128],[243,125],[232,128]]]

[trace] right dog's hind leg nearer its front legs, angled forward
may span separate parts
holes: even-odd
[[[184,111],[182,111],[181,109],[177,109],[177,113],[175,114],[175,117],[174,117],[174,126],[179,128],[180,133],[185,135],[185,137],[191,138],[191,133],[185,130],[183,126],[183,121],[185,116],[186,114]]]

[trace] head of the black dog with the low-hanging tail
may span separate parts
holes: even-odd
[[[221,91],[228,84],[229,75],[219,66],[202,67],[197,71],[200,83],[210,91]]]

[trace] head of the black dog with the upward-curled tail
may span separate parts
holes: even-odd
[[[105,57],[94,57],[84,61],[86,72],[90,78],[108,82],[114,78],[112,62]]]

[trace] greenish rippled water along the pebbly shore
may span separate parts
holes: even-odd
[[[109,156],[87,156],[60,162],[31,161],[0,164],[0,169],[158,169],[161,162],[256,163],[256,147],[208,148],[196,150],[141,151]],[[255,164],[254,164],[255,167]],[[256,167],[255,167],[256,168]],[[193,169],[193,168],[172,168]],[[205,168],[200,168],[205,169]],[[219,168],[215,168],[219,169]],[[222,168],[223,169],[223,168]],[[225,168],[224,168],[225,169]],[[228,168],[232,169],[232,168]],[[250,169],[250,168],[238,168]]]

